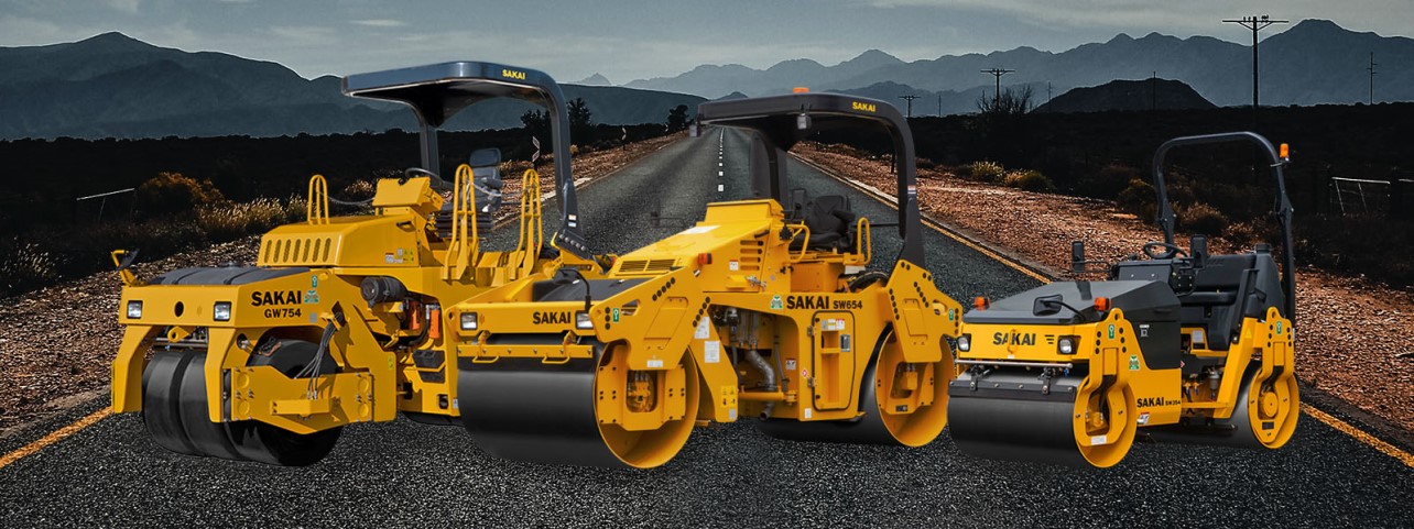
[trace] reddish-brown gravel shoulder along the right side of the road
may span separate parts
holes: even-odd
[[[793,152],[894,193],[895,181],[885,162],[816,144]],[[1069,269],[1073,240],[1085,241],[1087,258],[1113,262],[1158,237],[1151,220],[1121,213],[1109,200],[983,185],[942,168],[919,171],[918,196],[925,214],[1053,269]],[[1186,240],[1181,234],[1179,241]],[[1209,247],[1215,254],[1234,251],[1222,238]],[[1410,333],[1414,295],[1302,268],[1297,272],[1297,299],[1298,377],[1414,430],[1414,334]]]

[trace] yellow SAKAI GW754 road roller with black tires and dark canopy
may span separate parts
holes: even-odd
[[[592,262],[578,229],[566,102],[550,76],[448,62],[352,75],[344,93],[407,104],[421,126],[421,166],[379,181],[372,214],[331,217],[315,175],[307,221],[267,233],[255,265],[140,281],[130,269],[136,254],[113,253],[126,330],[112,406],[141,412],[171,451],[304,466],[325,457],[345,425],[393,420],[399,411],[454,422],[457,367],[443,308],[546,267]],[[451,181],[437,175],[438,128],[493,97],[549,109],[563,212],[551,244],[534,171],[520,175],[520,240],[509,251],[481,247],[501,200],[499,151],[472,152]]]

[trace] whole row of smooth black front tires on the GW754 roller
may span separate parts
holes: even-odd
[[[317,347],[284,340],[279,354],[253,355],[250,365],[273,365],[296,375]],[[158,446],[178,454],[303,467],[334,450],[342,427],[293,433],[257,420],[211,422],[206,415],[205,351],[154,351],[143,368],[143,423]],[[321,364],[334,364],[322,358]],[[324,372],[334,372],[337,365]]]

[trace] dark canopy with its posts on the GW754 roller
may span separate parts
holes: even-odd
[[[578,227],[578,203],[570,175],[570,116],[560,85],[544,72],[493,62],[443,62],[344,78],[344,93],[407,104],[421,127],[423,169],[440,172],[437,128],[475,103],[512,97],[543,106],[550,113],[551,141],[559,152],[554,164],[556,197],[561,227],[556,245],[592,258]]]

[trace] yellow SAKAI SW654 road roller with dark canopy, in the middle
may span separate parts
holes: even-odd
[[[778,437],[933,440],[962,306],[925,268],[908,123],[827,93],[710,102],[697,116],[755,134],[758,199],[708,205],[602,278],[566,264],[450,308],[472,439],[499,457],[607,467],[660,466],[694,426],[742,416]],[[844,196],[789,189],[789,148],[841,127],[894,141],[902,250],[889,267],[867,269],[882,224]]]

